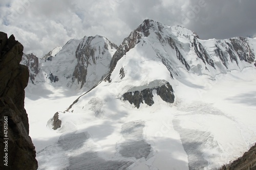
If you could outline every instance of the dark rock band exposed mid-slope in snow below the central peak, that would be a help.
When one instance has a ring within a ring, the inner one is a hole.
[[[130,104],[134,104],[139,108],[140,104],[145,102],[148,106],[154,104],[153,90],[157,90],[157,95],[167,103],[174,103],[175,95],[172,86],[167,82],[166,84],[154,88],[145,88],[141,91],[126,92],[123,94],[123,100],[129,101]]]

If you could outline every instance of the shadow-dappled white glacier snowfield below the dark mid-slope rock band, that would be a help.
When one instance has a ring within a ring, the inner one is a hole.
[[[84,169],[88,164],[94,165],[99,160],[103,161],[102,164],[93,168],[103,168],[106,162],[115,167],[113,164],[116,163],[111,161],[135,162],[130,165],[130,169],[188,169],[188,165],[191,169],[199,165],[210,169],[221,166],[241,156],[256,140],[255,72],[255,68],[246,68],[242,72],[221,74],[215,80],[200,76],[196,76],[196,80],[195,77],[187,77],[186,81],[194,85],[188,86],[180,82],[175,90],[180,93],[179,99],[172,107],[158,98],[155,99],[154,106],[137,109],[127,101],[122,102],[108,97],[108,92],[104,94],[99,91],[100,95],[91,94],[95,97],[88,99],[88,102],[81,102],[84,103],[81,104],[81,110],[82,107],[88,106],[87,110],[60,114],[62,127],[57,134],[45,126],[52,116],[50,112],[53,112],[48,109],[48,116],[44,115],[44,122],[40,126],[39,120],[30,125],[30,135],[33,141],[37,141],[35,145],[37,144],[36,150],[39,151],[39,169],[63,169],[64,166],[69,167],[72,164],[70,169]],[[195,85],[202,84],[201,81],[208,83],[201,88],[195,88]],[[106,97],[102,99],[100,96],[104,95]],[[48,103],[46,102],[49,99],[39,101],[46,103],[48,107],[56,108],[55,102],[66,102],[67,106],[71,100],[59,100],[54,96],[50,99],[51,102]],[[65,109],[67,107],[55,110]],[[38,110],[36,113],[40,114]],[[31,113],[28,108],[27,111]],[[46,111],[41,112],[45,114]],[[122,127],[127,123],[131,124],[131,130],[128,130],[127,137],[124,137]],[[38,134],[36,129],[32,130],[35,124],[44,131]],[[135,130],[138,124],[143,127],[140,132]],[[141,135],[135,136],[130,131]],[[74,134],[66,136],[69,133]],[[76,137],[75,134],[84,134],[84,137],[78,138],[79,135]],[[60,135],[65,137],[68,141],[66,145],[71,148],[61,148],[62,140],[58,138]],[[80,143],[77,143],[79,141]],[[148,144],[151,147],[150,153],[144,153]],[[41,151],[44,146],[47,147]],[[125,147],[131,150],[127,156]],[[140,148],[143,150],[139,150]],[[84,161],[84,157],[91,155],[94,155],[91,161]],[[76,160],[75,163],[73,159]],[[76,164],[81,167],[75,166]]]

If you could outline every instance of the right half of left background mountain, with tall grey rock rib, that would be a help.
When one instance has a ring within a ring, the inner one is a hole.
[[[88,72],[97,76],[95,66],[98,62],[108,67],[112,58],[109,53],[109,48],[116,49],[117,46],[102,36],[84,37],[76,50],[78,64],[75,67],[72,81],[77,80],[78,84],[81,83],[80,88],[82,88],[88,79],[90,79],[87,78]],[[103,67],[99,69],[101,69],[102,75],[98,82],[102,80],[109,71],[109,69],[104,69]]]

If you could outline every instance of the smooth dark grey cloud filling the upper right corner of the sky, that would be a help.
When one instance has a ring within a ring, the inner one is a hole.
[[[209,1],[187,26],[203,39],[253,36],[256,33],[256,1]],[[191,6],[194,6],[191,4]]]

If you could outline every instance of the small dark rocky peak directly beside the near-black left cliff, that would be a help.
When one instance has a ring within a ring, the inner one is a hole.
[[[20,64],[26,65],[29,68],[29,77],[31,82],[34,84],[35,77],[39,73],[39,60],[33,54],[24,54]]]

